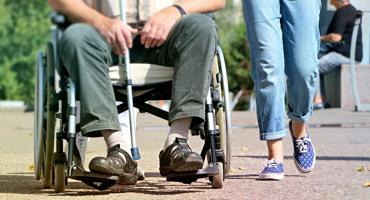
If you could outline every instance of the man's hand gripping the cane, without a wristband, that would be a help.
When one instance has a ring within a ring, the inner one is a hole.
[[[106,18],[103,24],[98,31],[111,46],[114,54],[123,57],[127,53],[126,44],[128,48],[132,47],[131,35],[136,34],[138,30],[117,19]]]

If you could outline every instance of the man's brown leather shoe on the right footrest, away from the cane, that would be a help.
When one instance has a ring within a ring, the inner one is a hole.
[[[176,148],[171,152],[171,150]],[[159,153],[159,172],[161,176],[167,176],[171,172],[186,172],[202,169],[202,157],[192,152],[186,139],[176,138],[166,150]]]

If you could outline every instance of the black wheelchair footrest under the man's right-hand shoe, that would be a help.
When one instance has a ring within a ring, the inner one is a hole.
[[[167,175],[167,181],[181,182],[185,184],[191,184],[198,179],[205,178],[208,176],[218,175],[218,163],[209,163],[205,169],[198,169],[188,172],[176,172]]]

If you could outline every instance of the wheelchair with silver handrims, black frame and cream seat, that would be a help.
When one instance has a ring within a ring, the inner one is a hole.
[[[57,193],[65,192],[68,178],[80,180],[98,190],[105,190],[117,184],[119,177],[88,172],[82,165],[81,157],[75,144],[76,133],[80,131],[80,125],[76,124],[77,95],[75,84],[68,75],[67,70],[63,67],[63,62],[57,48],[57,41],[68,23],[63,15],[57,13],[52,13],[51,19],[57,25],[51,34],[52,41],[54,40],[54,42],[48,42],[44,52],[38,50],[36,61],[34,121],[35,179],[42,180],[44,189],[49,189],[53,185]],[[220,63],[223,76],[219,73],[218,63]],[[171,98],[173,69],[151,64],[131,65],[134,66],[132,69],[135,69],[131,72],[132,91],[135,92],[132,101],[133,106],[141,111],[168,120],[167,111],[151,106],[146,102],[149,100],[169,100]],[[110,68],[110,76],[116,100],[123,102],[117,106],[118,113],[129,109],[124,71],[125,69],[122,70],[122,66]],[[142,74],[157,73],[160,73],[161,76],[151,77],[152,79],[150,80],[140,78]],[[55,87],[57,79],[60,79],[58,81],[58,88]],[[57,92],[57,90],[59,91]],[[224,97],[221,91],[223,91]],[[217,47],[217,54],[213,64],[213,77],[205,104],[205,122],[194,130],[191,130],[191,134],[200,135],[205,141],[201,157],[204,161],[208,162],[208,165],[199,170],[170,173],[166,177],[167,181],[190,184],[197,179],[209,177],[212,188],[222,188],[225,176],[228,175],[230,170],[231,126],[228,82],[225,62],[220,47]],[[223,108],[225,108],[225,114]],[[57,119],[60,120],[60,127],[55,132]],[[225,125],[224,121],[226,122]],[[68,156],[63,151],[63,140],[68,142]],[[55,152],[54,147],[56,148]],[[139,156],[133,155],[133,157],[135,159],[135,157]]]

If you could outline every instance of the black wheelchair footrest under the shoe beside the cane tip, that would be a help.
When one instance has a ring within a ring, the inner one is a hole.
[[[120,180],[120,177],[118,176],[84,171],[77,165],[67,166],[66,177],[80,180],[98,190],[106,190],[109,187],[116,185],[118,180]]]

